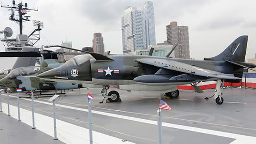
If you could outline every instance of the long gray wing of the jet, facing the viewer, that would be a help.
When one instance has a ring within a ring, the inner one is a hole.
[[[207,78],[217,78],[217,79],[241,79],[239,77],[234,77],[234,74],[224,74],[221,72],[216,72],[213,70],[207,70],[193,65],[188,65],[183,62],[177,62],[174,60],[167,59],[157,59],[157,58],[141,58],[137,59],[138,62],[153,65],[155,67],[164,68],[167,70],[174,70],[178,72],[184,72],[191,75],[197,75]]]

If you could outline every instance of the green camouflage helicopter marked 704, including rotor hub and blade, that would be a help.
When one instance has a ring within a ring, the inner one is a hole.
[[[22,58],[29,57],[31,59],[33,59],[36,56],[41,56],[40,55],[41,52],[39,51],[36,51],[36,55],[35,54],[31,55],[30,52],[28,53],[27,52],[26,53],[2,52],[0,55],[3,55],[3,54],[7,54],[7,56],[8,55],[19,56]],[[53,81],[41,80],[36,77],[27,77],[27,76],[36,76],[38,74],[41,74],[42,72],[46,72],[60,65],[63,65],[66,62],[65,60],[63,61],[58,60],[57,54],[60,54],[60,53],[44,50],[42,54],[43,54],[44,60],[41,62],[40,66],[17,67],[11,70],[11,72],[7,74],[6,77],[0,79],[0,85],[10,88],[10,92],[16,92],[16,90],[19,88],[19,89],[22,89],[22,91],[40,90],[40,94],[41,94],[41,90],[65,90],[65,89],[82,88],[81,84],[53,82]],[[16,63],[19,61],[19,59],[20,58],[17,59]],[[34,61],[34,65],[35,65],[35,61]],[[61,93],[61,94],[65,94],[65,93]]]

